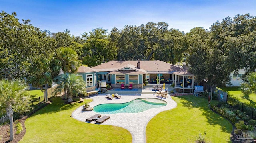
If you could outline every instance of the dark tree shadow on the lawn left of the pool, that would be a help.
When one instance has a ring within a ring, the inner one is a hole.
[[[66,100],[62,100],[60,97],[53,97],[50,99],[51,103],[46,107],[38,110],[36,113],[32,114],[30,117],[36,116],[38,114],[52,114],[56,112],[60,112],[63,110],[68,110],[70,108],[74,108],[80,104],[79,102],[74,102],[67,104]],[[81,104],[82,105],[82,104]]]

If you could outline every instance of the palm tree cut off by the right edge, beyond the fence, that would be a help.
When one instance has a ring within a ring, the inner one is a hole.
[[[242,98],[250,99],[250,94],[256,94],[256,72],[249,72],[245,76],[245,82],[241,84]]]

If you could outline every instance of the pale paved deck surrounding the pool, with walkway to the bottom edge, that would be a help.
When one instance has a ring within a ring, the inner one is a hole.
[[[98,104],[104,104],[104,103],[125,103],[125,102],[130,102],[131,100],[136,98],[157,98],[167,102],[167,105],[164,107],[152,108],[140,113],[101,114],[102,116],[104,115],[110,116],[110,119],[106,120],[101,125],[115,125],[115,126],[119,126],[127,129],[132,134],[133,143],[146,143],[146,126],[150,121],[150,119],[152,119],[154,116],[156,116],[156,114],[162,111],[170,110],[177,106],[177,103],[174,100],[172,100],[170,95],[168,95],[168,98],[156,97],[155,94],[121,95],[121,96],[122,97],[120,99],[113,98],[112,100],[106,98],[106,94],[90,96],[90,98],[93,99],[93,101],[90,102],[89,105],[90,107],[94,107]],[[72,113],[72,116],[73,118],[82,122],[86,122],[87,118],[89,118],[90,116],[93,116],[94,114],[98,114],[94,111],[81,111],[81,110],[82,110],[82,106],[77,108]],[[92,121],[91,123],[95,124],[95,121]]]

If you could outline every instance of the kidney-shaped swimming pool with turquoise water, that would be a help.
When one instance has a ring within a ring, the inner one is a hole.
[[[100,114],[115,113],[139,113],[151,108],[166,106],[167,102],[156,98],[138,98],[130,102],[120,104],[100,104],[93,108],[94,112]]]

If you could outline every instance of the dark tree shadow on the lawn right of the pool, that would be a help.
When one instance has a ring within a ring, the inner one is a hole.
[[[179,98],[186,100],[186,102],[180,102],[182,106],[188,108],[189,110],[192,108],[198,108],[202,111],[202,115],[207,118],[207,121],[210,125],[220,125],[222,128],[221,130],[226,133],[231,133],[232,131],[232,124],[230,126],[227,125],[228,121],[224,121],[220,115],[216,114],[212,110],[210,110],[208,106],[208,99],[203,97],[196,97],[196,96],[178,96]],[[231,127],[231,128],[230,128]]]

